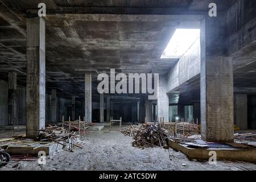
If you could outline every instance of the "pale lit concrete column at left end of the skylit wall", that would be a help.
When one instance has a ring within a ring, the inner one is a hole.
[[[159,75],[159,84],[158,84],[158,117],[164,117],[164,121],[168,122],[169,120],[169,97],[166,94],[166,77]],[[157,120],[158,118],[156,118]]]

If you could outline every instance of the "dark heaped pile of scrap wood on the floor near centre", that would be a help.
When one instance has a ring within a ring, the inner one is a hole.
[[[133,146],[139,148],[167,147],[168,136],[168,131],[160,125],[142,125],[134,137]]]

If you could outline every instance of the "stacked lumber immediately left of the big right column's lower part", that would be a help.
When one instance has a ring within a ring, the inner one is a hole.
[[[176,123],[176,135],[191,136],[198,134],[198,125],[194,123]]]

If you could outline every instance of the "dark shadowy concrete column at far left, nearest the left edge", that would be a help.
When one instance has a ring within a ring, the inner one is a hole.
[[[18,125],[17,75],[15,72],[8,74],[8,124]]]

